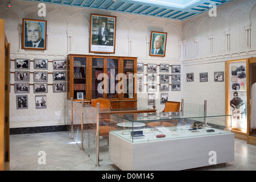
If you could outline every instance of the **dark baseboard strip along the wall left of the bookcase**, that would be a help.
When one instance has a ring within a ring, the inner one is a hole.
[[[11,128],[10,135],[68,131],[67,125]]]

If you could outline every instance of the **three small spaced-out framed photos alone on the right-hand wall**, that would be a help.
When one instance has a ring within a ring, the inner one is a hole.
[[[214,81],[224,81],[224,72],[214,72]],[[194,73],[187,73],[187,82],[194,81]],[[208,82],[208,72],[199,73],[200,82]]]

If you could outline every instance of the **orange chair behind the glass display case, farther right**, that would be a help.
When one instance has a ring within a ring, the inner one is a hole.
[[[162,112],[179,112],[180,111],[180,102],[175,101],[166,101],[166,105],[164,106],[164,110]],[[157,127],[157,126],[177,126],[177,119],[172,120],[172,122],[168,121],[156,121],[156,122],[149,122],[146,123],[148,127]]]

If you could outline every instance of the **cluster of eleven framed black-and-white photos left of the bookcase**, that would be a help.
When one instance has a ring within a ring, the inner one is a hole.
[[[16,93],[16,109],[33,107],[33,105],[28,107],[31,99],[28,93],[30,96],[34,93],[35,109],[46,109],[50,86],[52,86],[53,93],[67,91],[67,60],[15,59],[11,61],[15,61],[15,71],[11,72],[14,74],[15,83],[11,85],[14,85],[14,93]],[[53,72],[48,72],[49,64]],[[48,82],[48,76],[52,76],[52,83]],[[30,85],[32,85],[33,92],[30,90]]]

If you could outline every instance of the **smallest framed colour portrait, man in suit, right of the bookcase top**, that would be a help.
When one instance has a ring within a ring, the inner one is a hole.
[[[151,32],[150,56],[166,56],[167,33]]]

